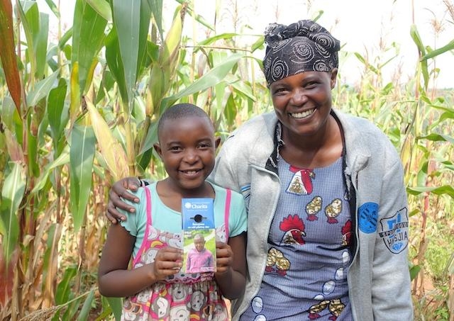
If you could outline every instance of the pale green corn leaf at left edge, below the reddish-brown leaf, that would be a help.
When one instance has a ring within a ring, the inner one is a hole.
[[[1,189],[1,234],[6,261],[11,259],[11,254],[17,245],[19,237],[19,223],[17,211],[26,190],[26,176],[23,171],[23,164],[20,162],[10,163],[11,172],[6,176],[6,179]]]

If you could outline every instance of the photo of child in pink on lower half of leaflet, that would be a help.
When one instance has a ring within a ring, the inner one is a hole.
[[[211,230],[207,230],[211,233]],[[208,238],[208,237],[207,237]],[[187,239],[185,237],[185,239]],[[215,241],[214,238],[206,240],[206,237],[201,233],[200,230],[194,234],[192,246],[186,251],[187,247],[184,247],[184,252],[187,255],[184,257],[184,265],[186,273],[203,273],[203,272],[215,272],[216,264],[213,253],[206,247],[206,243]]]

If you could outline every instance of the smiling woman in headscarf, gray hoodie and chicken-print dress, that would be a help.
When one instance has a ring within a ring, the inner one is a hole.
[[[309,20],[265,41],[275,112],[235,130],[210,176],[248,207],[233,320],[413,320],[402,163],[375,125],[331,108],[339,41]],[[110,219],[133,184],[114,185]]]

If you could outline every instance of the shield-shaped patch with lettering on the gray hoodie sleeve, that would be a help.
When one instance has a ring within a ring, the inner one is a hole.
[[[390,218],[380,220],[381,231],[378,233],[390,252],[398,254],[409,244],[409,215],[402,208]]]

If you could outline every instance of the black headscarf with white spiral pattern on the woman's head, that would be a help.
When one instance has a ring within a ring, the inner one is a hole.
[[[330,72],[338,67],[341,43],[314,21],[300,20],[289,26],[271,23],[265,42],[263,72],[268,85],[300,72]]]

